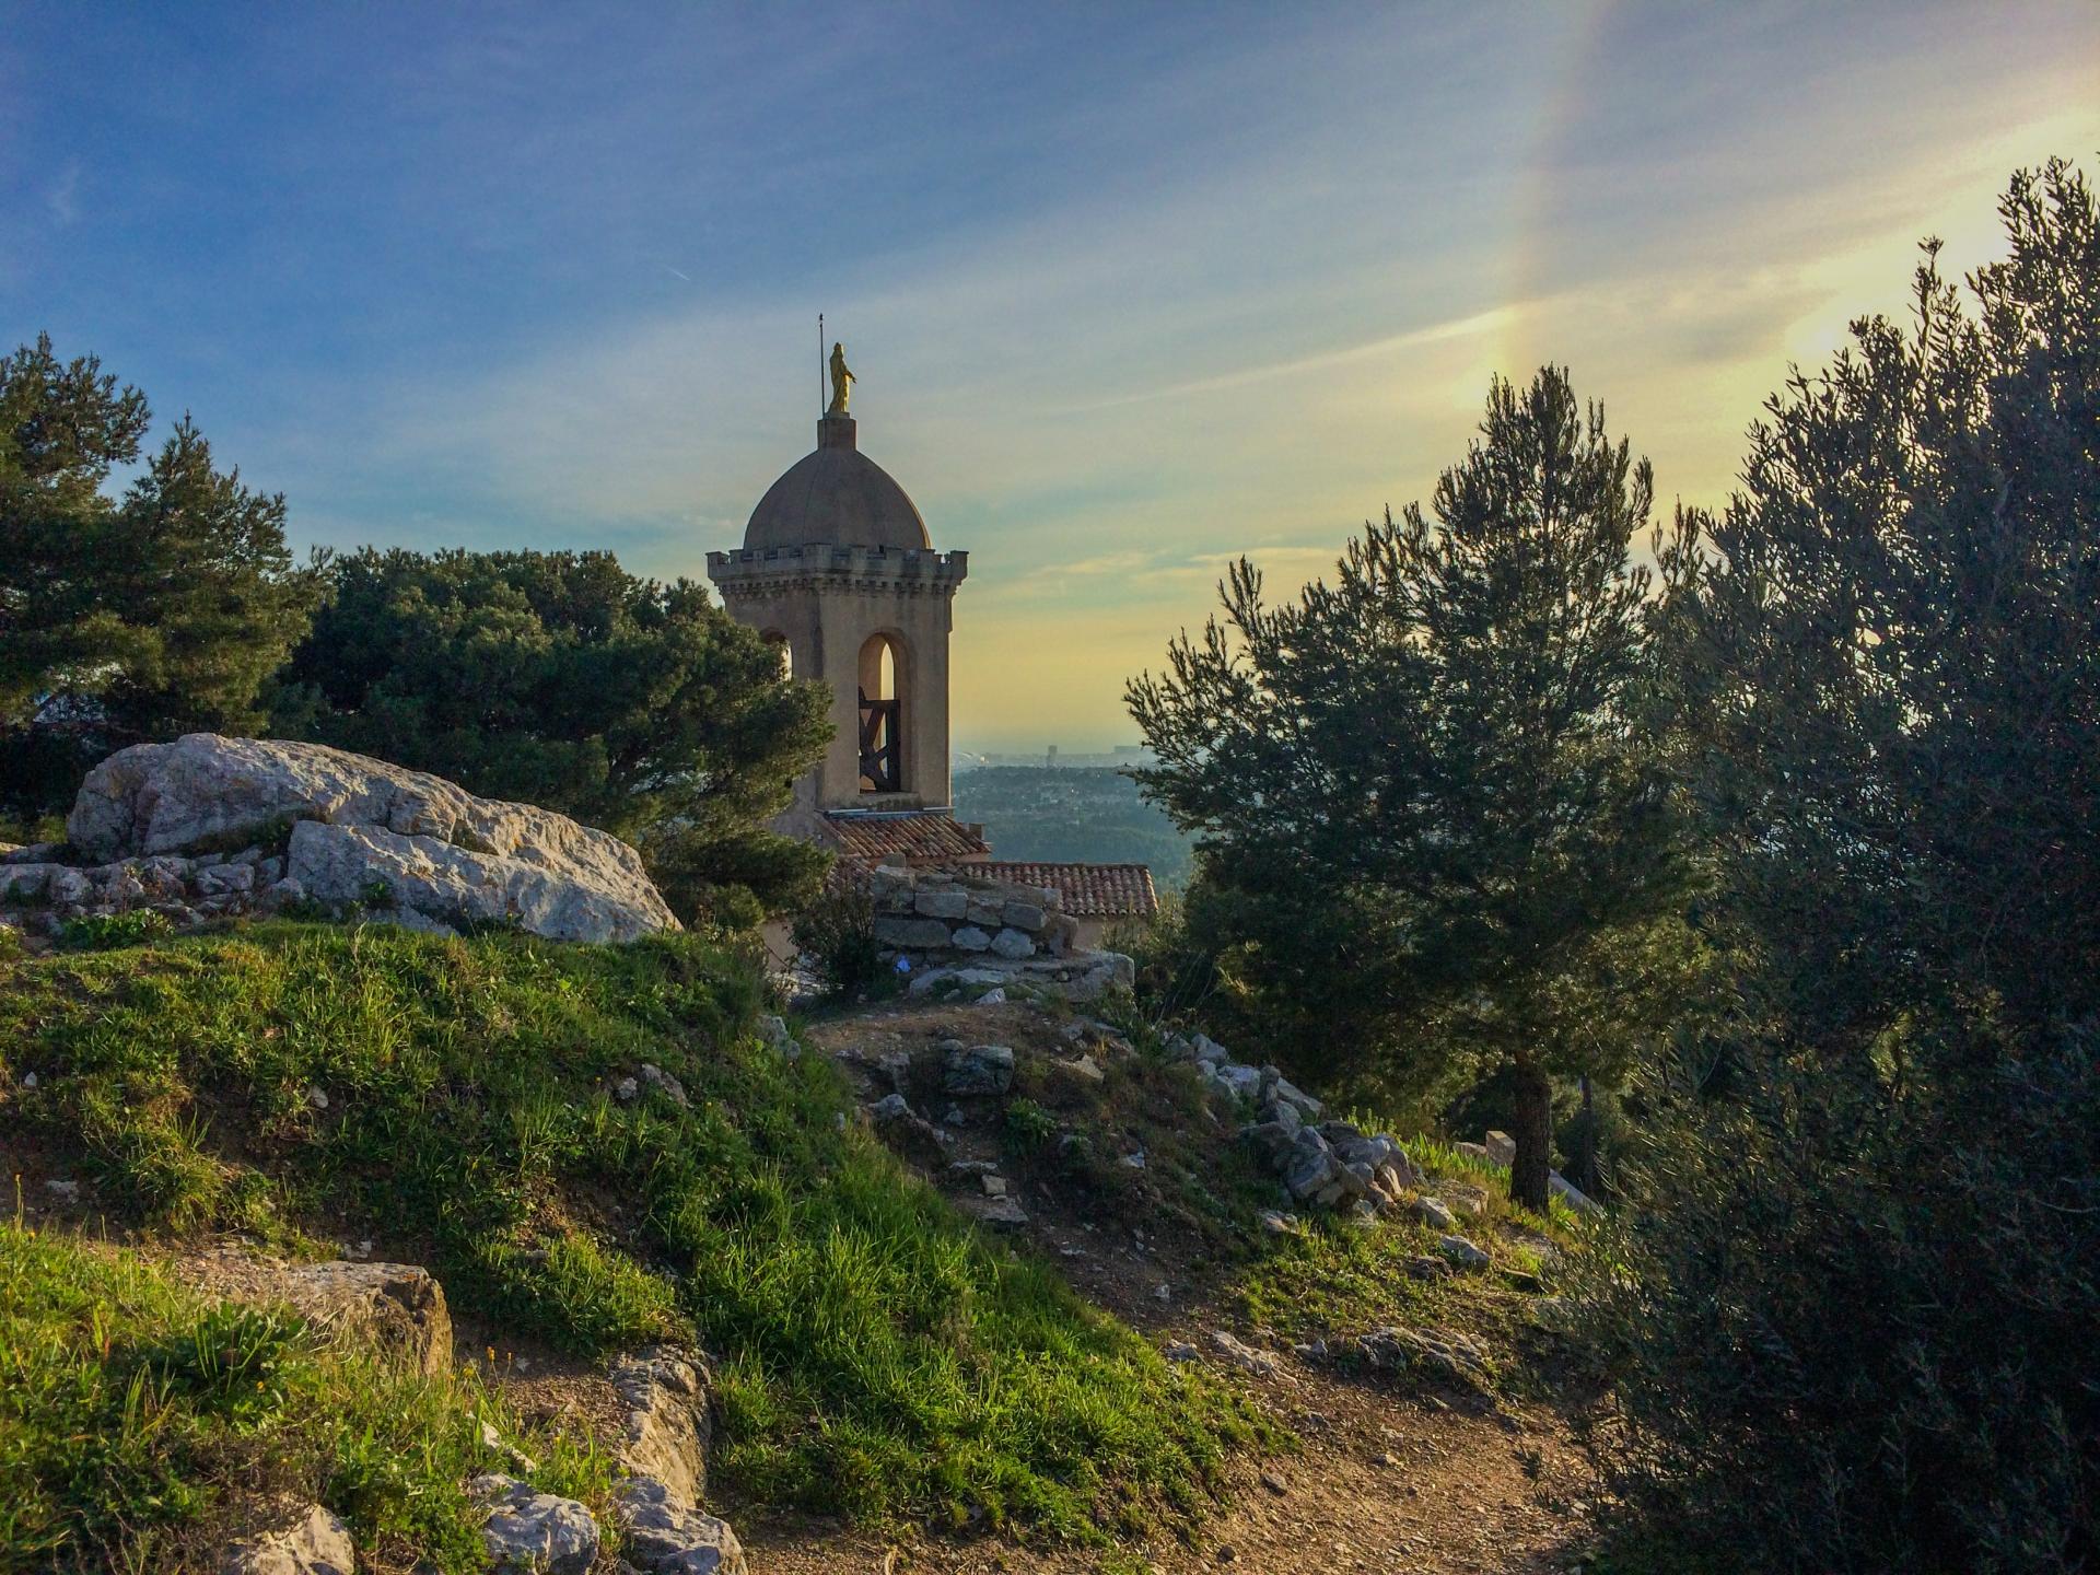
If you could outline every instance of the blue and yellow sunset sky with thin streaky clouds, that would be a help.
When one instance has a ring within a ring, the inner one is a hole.
[[[0,2],[0,338],[304,542],[704,571],[815,313],[941,546],[968,748],[1130,735],[1220,565],[1319,573],[1491,372],[1718,500],[1789,359],[2100,149],[2100,4]]]

